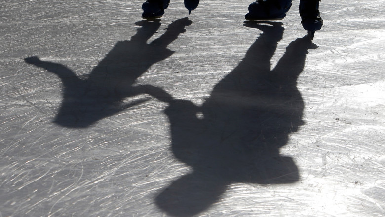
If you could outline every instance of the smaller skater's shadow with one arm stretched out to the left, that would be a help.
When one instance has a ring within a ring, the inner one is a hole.
[[[130,41],[119,41],[114,48],[87,75],[78,77],[66,66],[41,61],[37,56],[24,60],[49,72],[57,74],[63,82],[63,101],[55,123],[74,128],[88,127],[95,122],[114,115],[148,99],[123,104],[122,100],[145,93],[156,87],[134,86],[135,80],[154,63],[170,57],[174,52],[167,46],[184,33],[191,25],[188,18],[171,23],[166,32],[151,43],[147,41],[159,29],[160,20],[139,21],[141,26]]]

